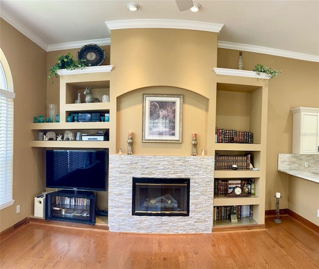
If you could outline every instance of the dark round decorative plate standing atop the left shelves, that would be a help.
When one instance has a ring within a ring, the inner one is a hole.
[[[79,49],[76,57],[78,60],[86,60],[86,66],[97,66],[104,62],[105,51],[99,45],[88,44]]]

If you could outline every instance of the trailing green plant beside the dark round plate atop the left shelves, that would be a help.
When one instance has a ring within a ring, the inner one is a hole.
[[[49,69],[49,75],[48,79],[51,79],[51,76],[58,77],[58,70],[59,69],[68,69],[68,70],[74,70],[74,69],[83,69],[86,67],[84,62],[85,59],[80,60],[74,60],[73,55],[69,52],[66,55],[59,55],[56,57],[57,63],[50,67]],[[54,83],[54,82],[52,82]]]

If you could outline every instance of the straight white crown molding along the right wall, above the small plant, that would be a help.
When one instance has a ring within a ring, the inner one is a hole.
[[[227,42],[227,41],[218,41],[217,47],[218,48],[249,51],[249,52],[256,52],[256,53],[292,58],[292,59],[297,59],[297,60],[304,60],[304,61],[309,61],[309,62],[319,62],[319,56],[317,56],[317,55],[310,55],[310,54],[293,52],[293,51],[288,51],[288,50],[260,47],[260,46],[240,44],[240,43],[232,43],[232,42]]]

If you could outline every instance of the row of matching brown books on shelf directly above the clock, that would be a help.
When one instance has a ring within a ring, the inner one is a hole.
[[[215,154],[215,170],[232,169],[232,165],[236,164],[237,169],[250,169],[252,161],[251,153],[245,155],[219,155]]]

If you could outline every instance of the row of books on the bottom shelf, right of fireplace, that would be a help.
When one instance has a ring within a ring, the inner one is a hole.
[[[236,215],[237,218],[252,218],[254,215],[253,205],[235,205],[235,206],[215,206],[214,220],[229,220],[230,215]]]

